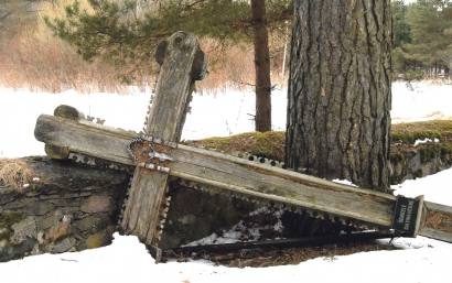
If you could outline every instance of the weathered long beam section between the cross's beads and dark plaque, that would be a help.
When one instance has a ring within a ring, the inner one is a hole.
[[[174,176],[378,226],[389,227],[392,222],[395,197],[387,194],[191,146],[179,146],[172,156],[176,160],[170,164]]]

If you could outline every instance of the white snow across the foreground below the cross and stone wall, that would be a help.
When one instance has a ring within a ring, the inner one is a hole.
[[[196,261],[154,264],[136,237],[77,253],[43,254],[0,264],[2,282],[448,282],[452,246],[427,239],[398,240],[405,250],[318,258],[298,265],[225,268]],[[397,240],[396,240],[397,241]]]

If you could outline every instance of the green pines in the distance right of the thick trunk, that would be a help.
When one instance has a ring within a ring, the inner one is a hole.
[[[452,1],[392,1],[395,78],[450,77]]]

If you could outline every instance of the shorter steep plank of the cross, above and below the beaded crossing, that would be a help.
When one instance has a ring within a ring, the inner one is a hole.
[[[162,64],[146,133],[164,141],[177,142],[192,99],[196,56],[196,36],[174,33],[159,48]],[[147,244],[155,244],[160,210],[168,189],[168,174],[137,167],[126,203],[121,228]]]

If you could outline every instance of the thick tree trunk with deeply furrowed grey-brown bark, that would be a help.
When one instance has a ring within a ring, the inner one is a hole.
[[[386,191],[389,0],[297,0],[286,141],[288,167]]]

